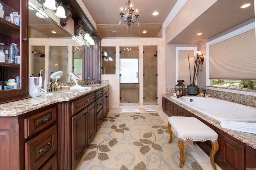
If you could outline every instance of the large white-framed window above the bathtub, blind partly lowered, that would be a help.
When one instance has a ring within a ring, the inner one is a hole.
[[[206,85],[256,95],[255,53],[254,23],[206,43]]]

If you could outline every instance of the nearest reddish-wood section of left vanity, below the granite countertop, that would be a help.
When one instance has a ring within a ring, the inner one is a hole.
[[[37,170],[50,160],[57,162],[57,135],[55,105],[1,117],[0,170]]]

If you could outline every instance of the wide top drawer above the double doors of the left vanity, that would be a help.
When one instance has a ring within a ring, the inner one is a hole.
[[[75,102],[72,102],[72,115],[78,113],[78,111],[81,111],[86,106],[91,104],[96,99],[96,94],[92,93],[88,96],[85,96],[84,98],[81,98],[79,100],[76,100]]]

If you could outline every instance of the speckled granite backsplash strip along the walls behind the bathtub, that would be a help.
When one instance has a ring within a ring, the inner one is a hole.
[[[236,94],[230,92],[223,92],[218,90],[210,90],[206,88],[199,88],[199,94],[203,93],[203,90],[206,90],[205,94],[210,94],[211,97],[217,98],[220,100],[226,100],[229,102],[234,102],[238,104],[243,104],[246,106],[256,107],[256,100],[255,96],[244,95],[244,94]],[[167,88],[166,89],[167,95],[173,95],[175,92],[175,88]],[[187,93],[186,93],[187,95]]]

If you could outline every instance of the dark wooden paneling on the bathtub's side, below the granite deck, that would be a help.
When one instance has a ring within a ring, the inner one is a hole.
[[[165,100],[165,109],[164,113],[168,116],[191,116],[196,117],[210,128],[212,128],[216,133],[218,133],[218,143],[220,149],[215,155],[215,162],[220,166],[220,168],[225,170],[246,170],[256,167],[256,149],[242,143],[238,139],[229,135],[228,133],[218,129],[214,125],[208,123],[207,121],[201,119],[200,117],[194,115],[190,111],[182,108],[181,106],[174,104],[170,100],[164,98]],[[169,108],[168,108],[169,106]],[[172,107],[173,115],[170,115],[170,108]],[[206,154],[210,154],[212,149],[211,143],[206,142],[197,142],[197,145],[204,150]]]

